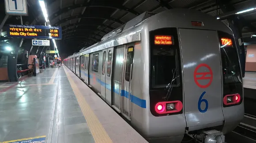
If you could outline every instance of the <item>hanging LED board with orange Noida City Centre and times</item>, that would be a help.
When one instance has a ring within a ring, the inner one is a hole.
[[[61,27],[38,25],[9,25],[8,37],[24,39],[61,39]]]

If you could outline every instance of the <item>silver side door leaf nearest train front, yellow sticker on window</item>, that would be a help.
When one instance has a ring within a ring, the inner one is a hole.
[[[124,50],[124,72],[122,87],[122,114],[131,119],[131,83],[132,83],[132,65],[133,65],[134,44],[126,45]]]

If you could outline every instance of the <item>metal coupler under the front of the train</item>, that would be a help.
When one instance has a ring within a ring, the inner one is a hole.
[[[196,140],[200,140],[200,143],[225,143],[225,136],[223,135],[223,132],[210,130],[196,135]]]

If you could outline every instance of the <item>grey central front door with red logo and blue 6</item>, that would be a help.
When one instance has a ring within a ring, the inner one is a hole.
[[[189,131],[222,125],[220,46],[216,31],[179,29],[184,113]]]

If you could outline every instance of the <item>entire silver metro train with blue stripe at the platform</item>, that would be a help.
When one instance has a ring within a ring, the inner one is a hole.
[[[150,143],[222,143],[244,117],[234,40],[199,11],[144,12],[64,64]]]

